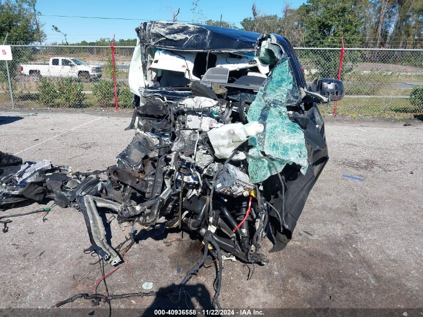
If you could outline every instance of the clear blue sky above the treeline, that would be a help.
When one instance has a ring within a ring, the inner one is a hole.
[[[38,0],[37,10],[43,15],[60,16],[86,16],[86,17],[112,17],[134,20],[100,20],[82,18],[45,17],[40,19],[45,23],[47,43],[62,42],[64,39],[59,33],[52,31],[52,25],[59,27],[68,35],[70,43],[82,40],[95,41],[100,38],[116,39],[135,38],[135,28],[142,20],[171,20],[172,8],[181,9],[178,16],[180,21],[191,21],[193,18],[191,8],[193,0],[73,0],[52,1]],[[239,22],[245,17],[251,17],[253,0],[199,0],[198,9],[201,9],[205,20],[223,20]],[[266,14],[281,15],[283,0],[255,1],[257,9]],[[303,3],[302,0],[288,1],[293,8]]]

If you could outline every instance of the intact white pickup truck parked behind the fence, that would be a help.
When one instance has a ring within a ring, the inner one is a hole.
[[[52,57],[49,64],[22,64],[21,73],[34,77],[68,77],[88,82],[102,76],[101,66],[73,57]]]

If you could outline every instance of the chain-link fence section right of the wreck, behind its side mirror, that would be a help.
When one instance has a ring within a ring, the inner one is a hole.
[[[297,48],[307,82],[337,78],[340,49]],[[412,116],[423,113],[423,50],[345,49],[342,75],[345,97],[337,114]],[[319,106],[333,111],[333,103]]]

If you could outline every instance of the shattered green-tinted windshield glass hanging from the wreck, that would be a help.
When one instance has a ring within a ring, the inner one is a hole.
[[[257,93],[248,110],[248,122],[258,121],[264,131],[249,139],[251,156],[264,153],[280,172],[286,164],[301,165],[305,174],[308,166],[307,149],[302,129],[287,117],[287,104],[298,100],[298,89],[288,58],[278,62]],[[260,183],[276,171],[266,159],[248,157],[248,174],[254,183]]]

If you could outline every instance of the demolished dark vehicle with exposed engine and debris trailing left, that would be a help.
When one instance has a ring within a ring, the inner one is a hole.
[[[204,263],[209,245],[220,273],[224,255],[267,263],[261,240],[272,240],[270,252],[286,245],[328,160],[317,104],[340,100],[342,82],[307,86],[292,46],[275,34],[165,22],[136,31],[133,140],[106,179],[101,171],[55,167],[67,176],[52,186],[52,171],[39,173],[43,198],[79,208],[93,249],[112,265],[123,259],[106,241],[98,208],[119,222],[198,233],[204,255],[181,284]],[[21,170],[2,166],[0,177]],[[9,185],[32,183],[18,180]],[[9,185],[3,195],[11,201],[31,199]],[[217,285],[220,306],[220,279]]]

